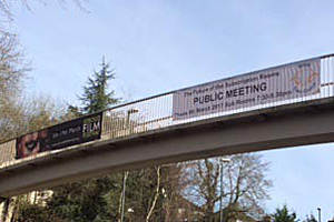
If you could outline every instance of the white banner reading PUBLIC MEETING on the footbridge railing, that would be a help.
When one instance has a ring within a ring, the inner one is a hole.
[[[218,80],[173,94],[173,119],[185,120],[320,93],[320,59]]]

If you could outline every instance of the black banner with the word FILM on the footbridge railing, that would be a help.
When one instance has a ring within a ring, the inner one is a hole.
[[[102,112],[76,119],[17,139],[17,159],[101,138]]]

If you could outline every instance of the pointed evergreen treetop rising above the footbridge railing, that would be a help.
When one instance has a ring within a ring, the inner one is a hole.
[[[108,81],[115,79],[114,70],[110,70],[110,63],[102,59],[101,70],[95,71],[92,78],[88,78],[87,87],[84,87],[84,94],[79,99],[84,107],[84,113],[94,113],[110,108],[111,104],[119,102],[115,98],[115,91],[108,92]]]

